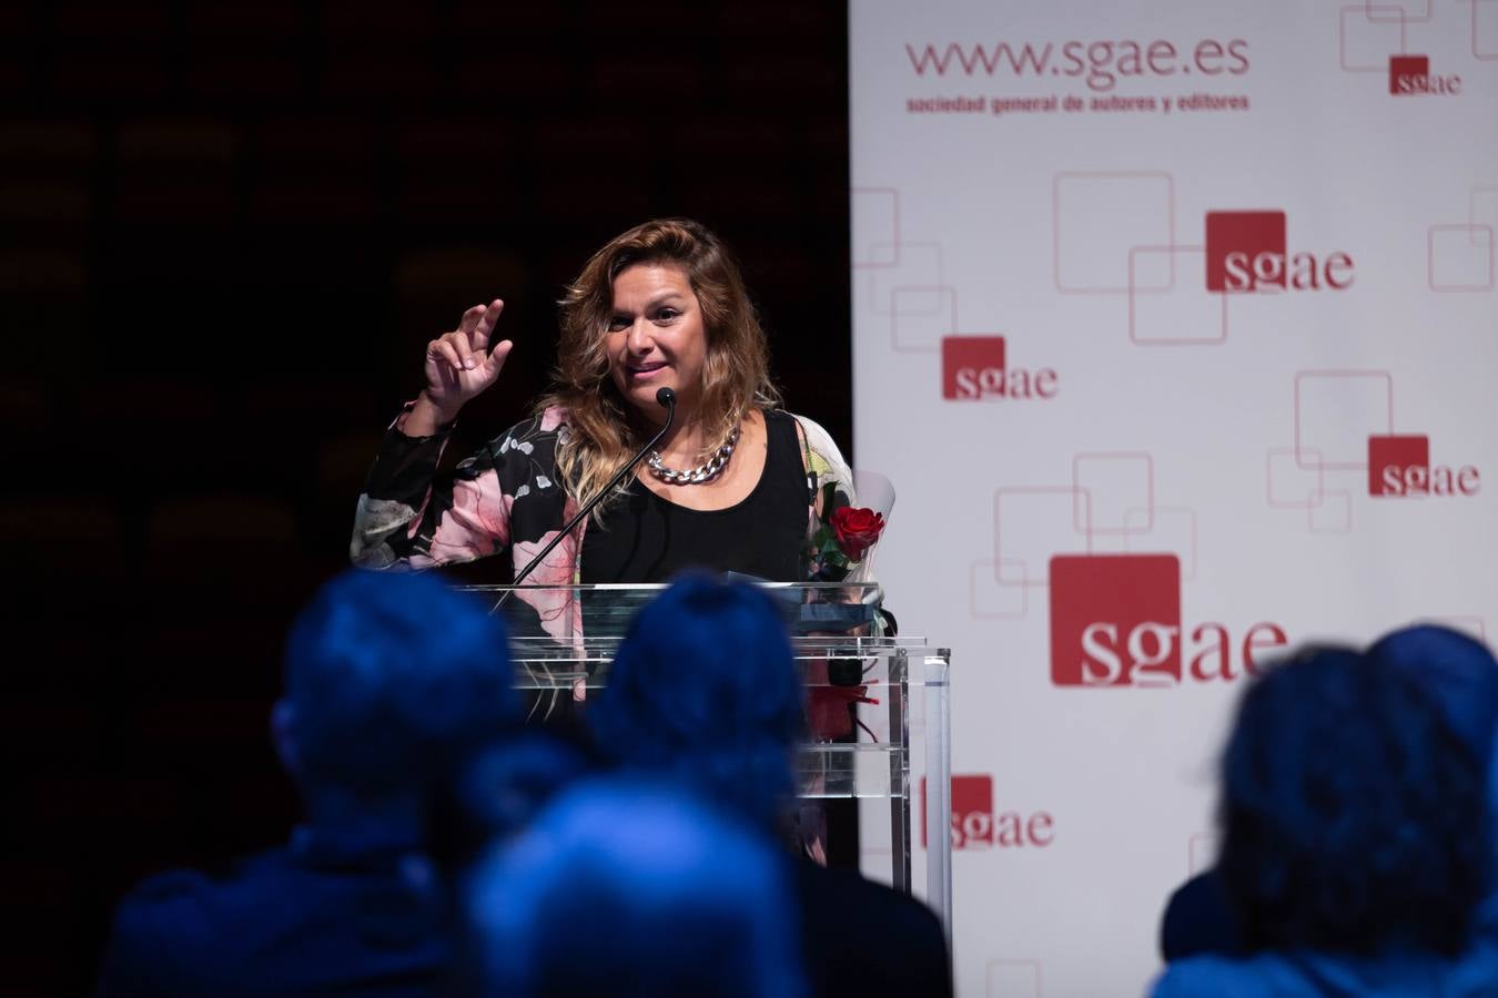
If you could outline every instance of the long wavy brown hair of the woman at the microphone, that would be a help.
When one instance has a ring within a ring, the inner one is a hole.
[[[536,408],[568,410],[568,435],[557,447],[557,468],[578,504],[596,495],[650,438],[610,377],[604,349],[614,311],[614,278],[635,263],[680,266],[703,310],[707,362],[694,413],[703,440],[709,441],[703,459],[752,408],[780,404],[780,392],[770,382],[770,347],[728,247],[691,218],[638,224],[610,239],[568,286],[560,302],[562,337],[553,389]]]

